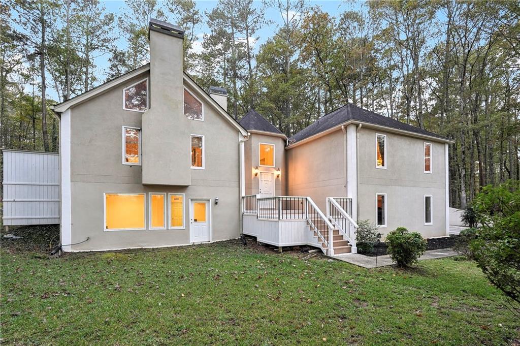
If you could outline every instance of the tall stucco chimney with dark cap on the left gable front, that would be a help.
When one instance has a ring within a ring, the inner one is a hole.
[[[187,186],[190,120],[184,115],[184,30],[151,19],[150,109],[142,115],[142,183]]]

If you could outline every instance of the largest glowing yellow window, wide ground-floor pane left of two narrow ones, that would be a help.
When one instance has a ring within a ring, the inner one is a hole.
[[[144,228],[144,194],[105,194],[105,229]]]

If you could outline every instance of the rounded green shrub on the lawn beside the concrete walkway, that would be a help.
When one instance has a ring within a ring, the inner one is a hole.
[[[408,232],[405,227],[398,227],[388,233],[386,244],[390,258],[400,267],[417,262],[426,251],[426,240],[417,232]]]

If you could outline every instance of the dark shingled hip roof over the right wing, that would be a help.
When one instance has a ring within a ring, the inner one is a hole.
[[[440,140],[440,142],[452,143],[452,140],[449,138],[437,135],[433,132],[382,116],[381,114],[362,109],[353,104],[346,104],[345,106],[326,114],[314,123],[305,127],[302,131],[296,133],[294,136],[289,138],[289,144],[295,144],[303,139],[312,137],[347,122],[387,127],[388,130],[394,129],[399,132],[407,132],[410,135],[435,138]]]

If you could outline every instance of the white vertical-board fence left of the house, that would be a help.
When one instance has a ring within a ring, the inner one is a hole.
[[[60,223],[59,155],[4,149],[4,225]]]

